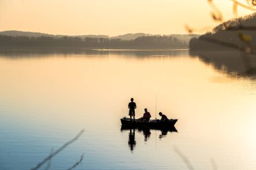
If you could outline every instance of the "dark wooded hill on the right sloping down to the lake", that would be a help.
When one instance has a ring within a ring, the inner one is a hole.
[[[256,13],[224,22],[199,38],[191,38],[190,50],[256,49]]]

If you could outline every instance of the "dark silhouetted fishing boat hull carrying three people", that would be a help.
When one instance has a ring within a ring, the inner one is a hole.
[[[151,129],[170,129],[174,127],[177,119],[170,119],[167,122],[160,122],[160,120],[150,120],[149,122],[139,122],[139,120],[131,120],[130,118],[121,118],[123,128],[151,128]]]

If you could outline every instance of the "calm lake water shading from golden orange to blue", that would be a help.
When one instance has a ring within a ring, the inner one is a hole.
[[[0,169],[32,169],[82,129],[40,169],[83,153],[75,169],[256,169],[256,81],[226,67],[188,50],[2,52]],[[121,130],[131,97],[178,132]]]

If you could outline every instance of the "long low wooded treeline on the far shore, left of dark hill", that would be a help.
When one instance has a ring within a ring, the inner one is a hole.
[[[109,38],[79,37],[28,37],[0,36],[0,46],[18,47],[83,47],[83,48],[133,48],[133,49],[166,49],[187,48],[188,44],[172,36],[141,36],[134,40]]]

